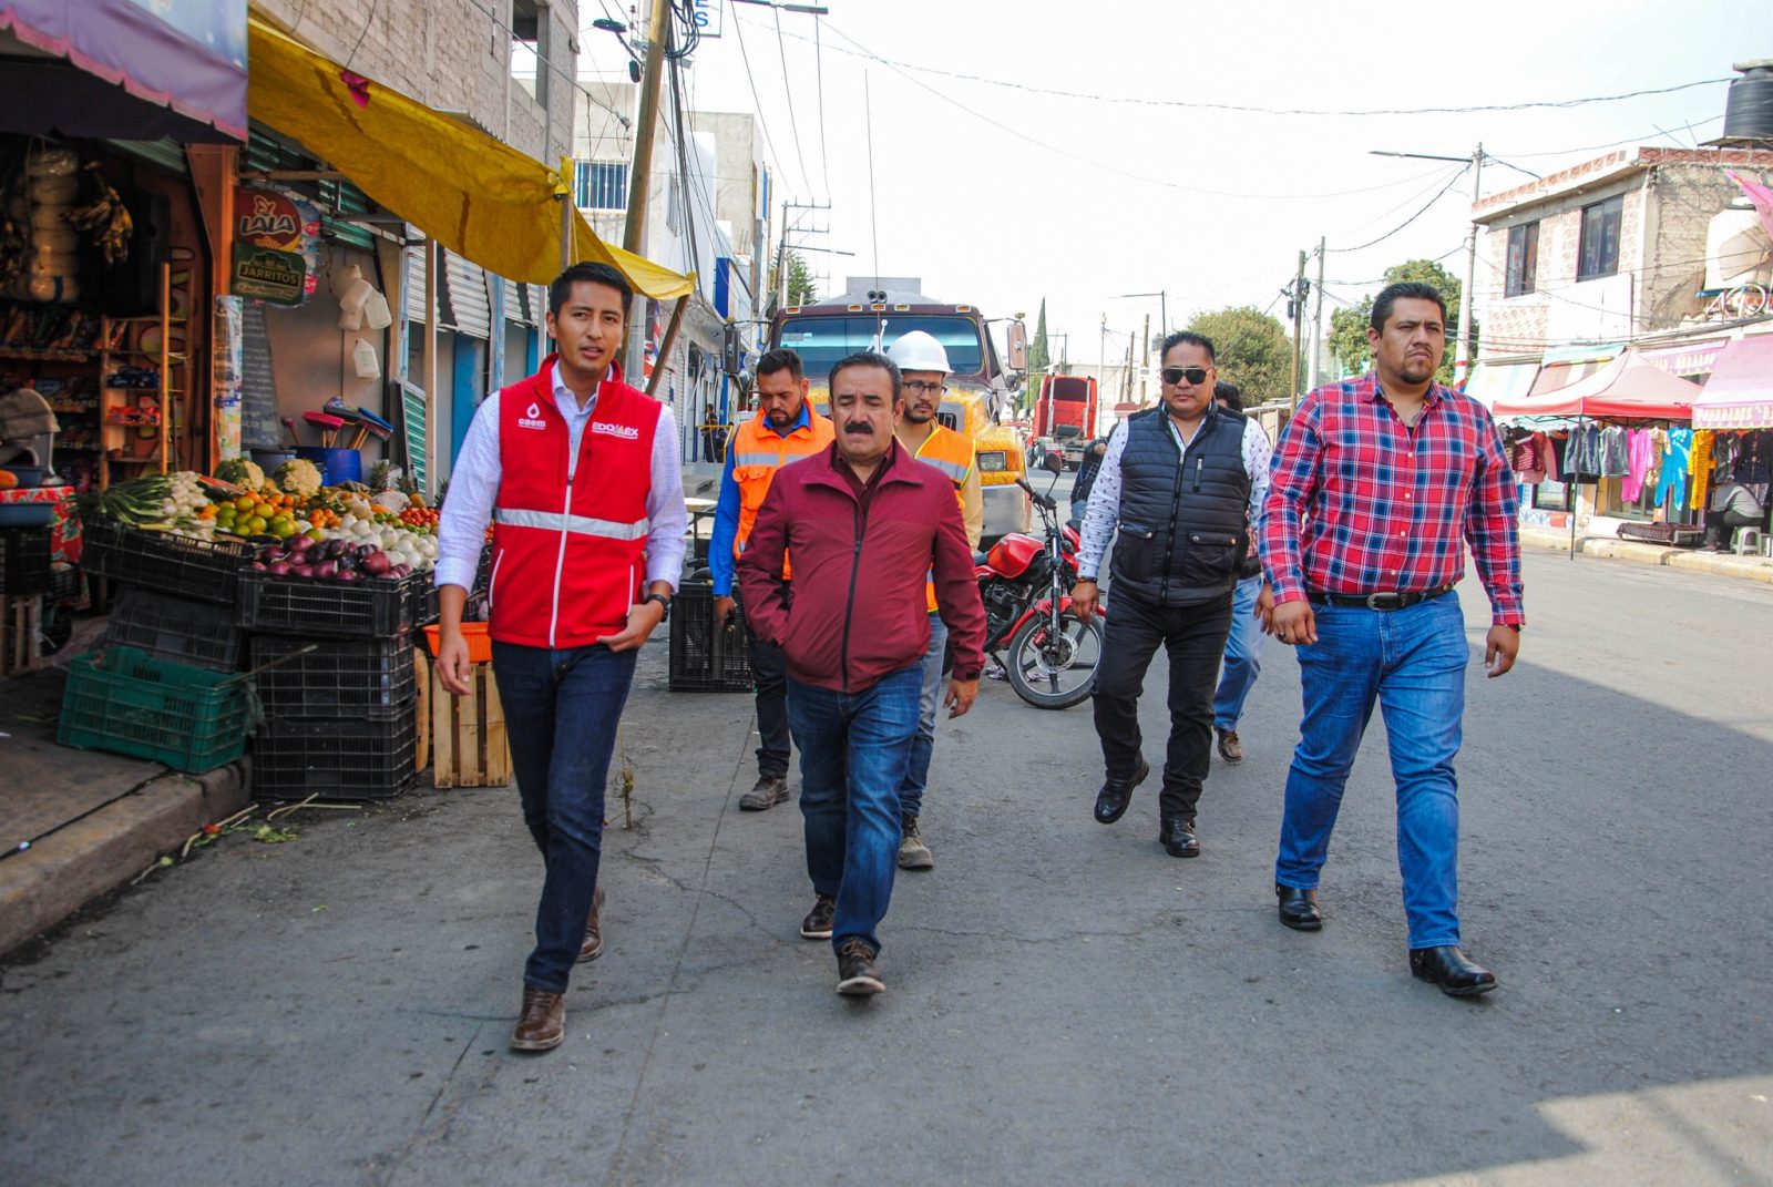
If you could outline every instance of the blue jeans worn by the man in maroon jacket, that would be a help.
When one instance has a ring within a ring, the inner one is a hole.
[[[832,947],[862,939],[881,949],[874,930],[899,868],[899,786],[917,736],[922,676],[922,664],[913,664],[849,694],[787,678],[807,875],[817,894],[837,898]]]

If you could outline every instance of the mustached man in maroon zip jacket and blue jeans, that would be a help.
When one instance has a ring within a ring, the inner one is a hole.
[[[750,626],[787,658],[787,717],[800,743],[807,873],[817,896],[800,926],[837,949],[837,992],[879,994],[874,930],[899,862],[899,784],[911,756],[929,648],[924,577],[954,646],[945,704],[979,696],[986,612],[973,554],[941,470],[894,440],[899,367],[860,351],[832,367],[837,440],[777,472],[739,557]],[[782,578],[794,555],[793,596]]]

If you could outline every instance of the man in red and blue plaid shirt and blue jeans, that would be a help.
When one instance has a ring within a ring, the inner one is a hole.
[[[1262,566],[1275,591],[1268,628],[1300,648],[1305,694],[1275,894],[1284,924],[1323,926],[1317,875],[1378,701],[1397,781],[1410,971],[1470,997],[1496,978],[1459,949],[1452,759],[1470,648],[1452,587],[1470,541],[1491,605],[1484,664],[1502,676],[1523,623],[1514,476],[1489,412],[1434,383],[1447,350],[1440,293],[1386,287],[1367,341],[1371,374],[1300,403],[1262,515]]]

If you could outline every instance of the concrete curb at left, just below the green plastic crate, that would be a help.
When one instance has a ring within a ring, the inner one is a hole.
[[[246,770],[161,772],[90,816],[0,861],[0,955],[126,885],[206,823],[246,807]]]

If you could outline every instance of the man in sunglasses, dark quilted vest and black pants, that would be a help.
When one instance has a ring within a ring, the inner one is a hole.
[[[1232,589],[1268,495],[1268,436],[1254,421],[1213,403],[1213,341],[1163,339],[1158,408],[1108,436],[1083,516],[1071,603],[1089,616],[1096,577],[1119,527],[1110,571],[1113,614],[1096,671],[1096,735],[1106,779],[1096,820],[1112,825],[1151,768],[1140,754],[1138,696],[1158,644],[1170,656],[1170,742],[1158,795],[1158,841],[1170,857],[1197,857],[1195,806],[1213,752],[1213,687],[1230,632]],[[1266,612],[1266,596],[1257,612]]]

